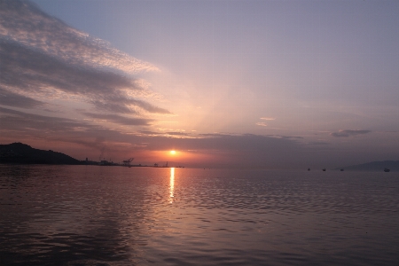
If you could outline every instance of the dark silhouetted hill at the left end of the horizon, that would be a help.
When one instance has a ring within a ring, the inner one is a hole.
[[[0,145],[0,163],[20,164],[81,164],[64,153],[34,149],[22,143]]]

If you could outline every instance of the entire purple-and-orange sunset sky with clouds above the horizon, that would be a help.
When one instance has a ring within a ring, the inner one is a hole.
[[[199,168],[399,160],[397,14],[371,0],[0,0],[0,142]]]

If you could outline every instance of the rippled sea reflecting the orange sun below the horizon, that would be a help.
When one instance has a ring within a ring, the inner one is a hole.
[[[0,265],[399,265],[399,173],[0,165]]]

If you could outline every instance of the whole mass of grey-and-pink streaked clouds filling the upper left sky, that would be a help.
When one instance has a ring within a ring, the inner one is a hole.
[[[112,113],[170,113],[134,97],[152,94],[144,93],[145,81],[129,74],[155,66],[68,27],[27,1],[0,2],[0,61],[8,106],[42,106],[35,96],[43,103],[71,98]]]

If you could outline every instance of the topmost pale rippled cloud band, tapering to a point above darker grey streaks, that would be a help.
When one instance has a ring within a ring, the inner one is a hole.
[[[129,73],[158,70],[67,26],[27,1],[0,2],[0,35],[74,65],[105,66]]]

